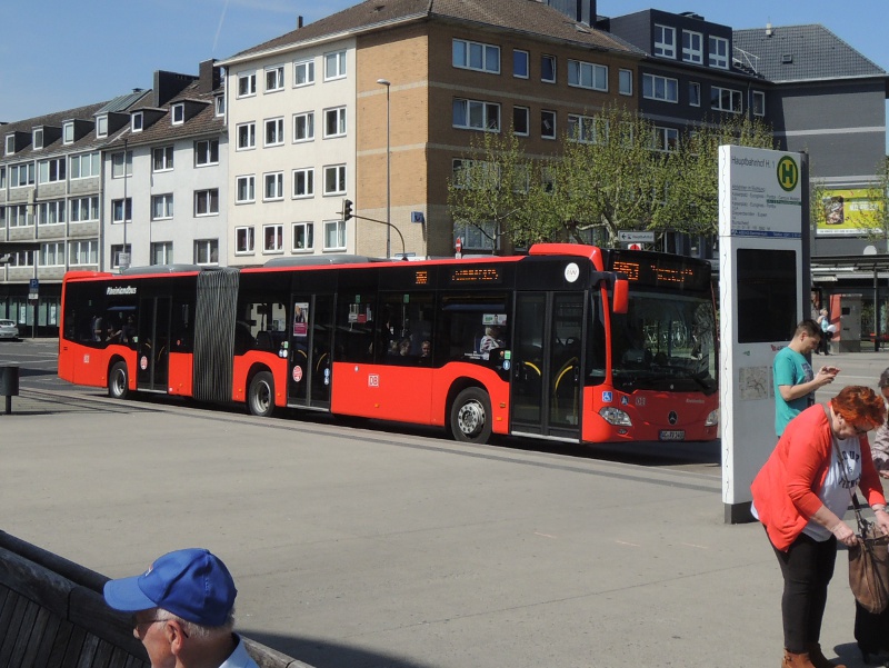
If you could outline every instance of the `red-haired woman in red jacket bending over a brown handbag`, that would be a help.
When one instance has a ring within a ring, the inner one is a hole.
[[[819,639],[837,541],[858,541],[842,521],[856,487],[880,530],[889,534],[866,436],[885,419],[882,397],[867,387],[846,387],[790,421],[753,480],[752,511],[766,527],[785,579],[782,668],[837,668],[821,654]]]

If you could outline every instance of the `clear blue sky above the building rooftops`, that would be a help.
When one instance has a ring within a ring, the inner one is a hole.
[[[417,0],[418,2],[423,0]],[[27,0],[3,8],[0,121],[150,88],[154,70],[197,74],[223,59],[356,4],[354,0]],[[889,71],[889,1],[598,0],[598,13],[693,11],[732,28],[822,23]]]

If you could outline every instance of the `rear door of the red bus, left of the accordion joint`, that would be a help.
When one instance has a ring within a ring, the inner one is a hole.
[[[170,361],[170,298],[147,297],[139,303],[136,385],[166,392]]]

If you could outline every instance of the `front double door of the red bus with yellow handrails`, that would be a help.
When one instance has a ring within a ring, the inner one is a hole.
[[[582,292],[518,292],[511,431],[580,439]]]

